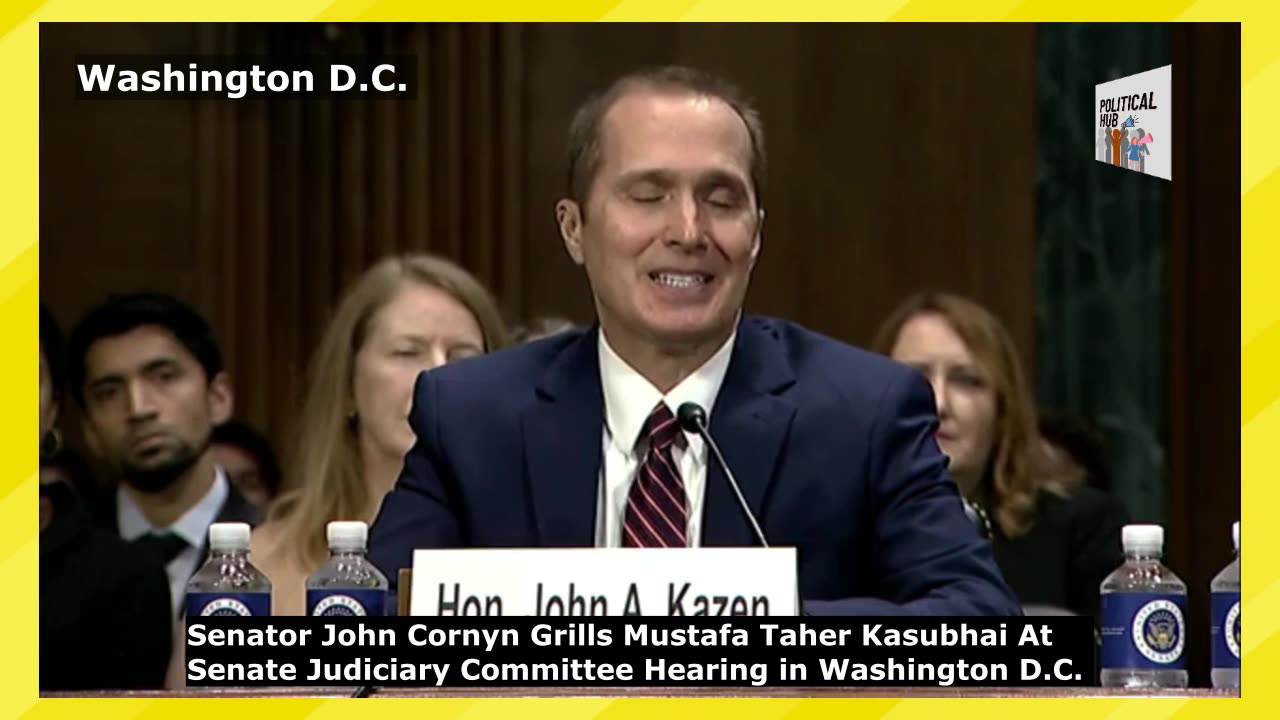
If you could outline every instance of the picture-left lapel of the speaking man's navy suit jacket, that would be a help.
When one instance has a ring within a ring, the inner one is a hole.
[[[595,544],[603,423],[593,329],[556,357],[522,416],[538,546]]]

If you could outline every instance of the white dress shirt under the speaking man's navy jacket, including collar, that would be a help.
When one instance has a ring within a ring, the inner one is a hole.
[[[622,521],[627,507],[627,493],[644,462],[648,441],[640,438],[649,414],[664,401],[672,415],[685,402],[696,402],[707,410],[710,421],[712,406],[719,395],[728,361],[733,354],[730,336],[724,345],[667,395],[658,392],[648,379],[626,364],[609,347],[604,333],[599,333],[600,387],[604,389],[604,454],[600,462],[600,489],[596,493],[595,544],[596,547],[622,547]],[[689,496],[689,547],[701,542],[703,497],[707,491],[707,445],[696,434],[685,433],[689,441],[681,450],[672,447],[672,455]]]

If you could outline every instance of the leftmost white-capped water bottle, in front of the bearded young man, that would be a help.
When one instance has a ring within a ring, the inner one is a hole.
[[[244,523],[209,525],[209,560],[187,583],[187,618],[270,615],[271,580],[248,561]]]

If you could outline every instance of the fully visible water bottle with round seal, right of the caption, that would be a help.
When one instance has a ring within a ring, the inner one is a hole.
[[[1102,685],[1187,687],[1187,585],[1160,557],[1165,529],[1125,525],[1124,565],[1102,580]]]

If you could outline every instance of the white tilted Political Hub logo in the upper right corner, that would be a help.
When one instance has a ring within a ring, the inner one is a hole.
[[[1172,179],[1172,65],[1094,86],[1096,160]]]

